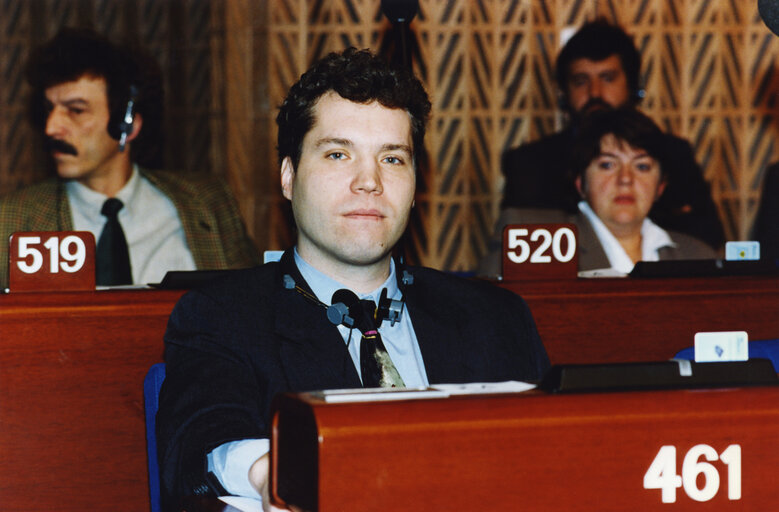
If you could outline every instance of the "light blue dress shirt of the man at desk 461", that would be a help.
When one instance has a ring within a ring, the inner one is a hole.
[[[331,279],[309,265],[295,249],[295,264],[300,274],[311,287],[311,291],[325,304],[330,304],[330,299],[336,290],[346,288],[341,283]],[[403,292],[398,288],[398,280],[395,271],[395,262],[390,260],[390,275],[384,283],[368,294],[357,294],[361,299],[371,299],[379,303],[381,291],[386,288],[387,296],[394,300],[401,300]],[[325,314],[324,309],[322,315]],[[349,355],[354,362],[357,373],[360,373],[360,332],[339,325],[338,331],[347,345]],[[403,378],[406,387],[424,387],[428,385],[425,365],[422,361],[422,352],[411,323],[411,315],[408,309],[403,308],[400,321],[391,326],[389,321],[382,322],[379,334],[387,348],[387,352],[393,364]],[[249,469],[258,458],[270,450],[268,439],[245,439],[222,444],[208,454],[208,470],[212,472],[222,484],[225,490],[235,496],[246,496],[261,499],[259,493],[249,483]]]

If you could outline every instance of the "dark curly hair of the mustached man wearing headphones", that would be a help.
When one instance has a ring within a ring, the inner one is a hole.
[[[145,167],[161,165],[164,92],[159,65],[149,54],[118,46],[88,28],[64,28],[33,50],[25,76],[31,88],[30,121],[39,133],[44,133],[48,116],[46,89],[91,76],[106,81],[111,116],[107,128],[118,137],[134,86],[135,112],[143,118],[143,128],[130,146],[132,160]]]

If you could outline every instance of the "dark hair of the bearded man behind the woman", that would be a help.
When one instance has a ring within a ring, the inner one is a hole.
[[[633,104],[635,105],[641,100],[641,54],[633,43],[633,39],[621,27],[609,23],[603,18],[598,18],[582,25],[557,56],[555,78],[560,92],[565,97],[566,104],[568,102],[571,63],[578,59],[597,62],[612,55],[619,56]]]

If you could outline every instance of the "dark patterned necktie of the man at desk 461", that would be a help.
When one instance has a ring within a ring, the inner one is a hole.
[[[360,338],[360,373],[362,385],[366,388],[402,388],[403,378],[392,363],[384,342],[381,341],[376,322],[376,303],[361,300],[356,305],[355,327],[362,333]]]

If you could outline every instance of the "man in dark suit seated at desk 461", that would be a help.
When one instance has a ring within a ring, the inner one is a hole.
[[[330,315],[339,294],[380,304],[374,328],[396,385],[542,377],[549,361],[520,297],[391,257],[413,207],[429,111],[416,78],[368,51],[330,54],[290,89],[277,123],[295,248],[184,296],[165,335],[157,431],[169,506],[230,493],[262,496],[270,509],[274,395],[369,382],[368,334]],[[394,304],[396,322],[382,322],[381,304]]]

